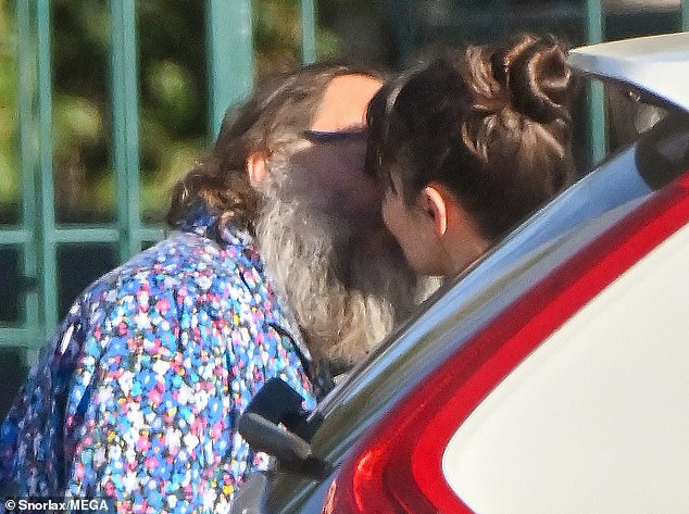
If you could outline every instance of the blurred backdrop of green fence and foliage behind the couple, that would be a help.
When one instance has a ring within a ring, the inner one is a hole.
[[[682,17],[680,0],[0,0],[0,415],[79,291],[163,237],[171,186],[255,82],[330,58],[399,70],[519,30],[573,46],[668,33]],[[577,102],[586,170],[627,135],[590,114],[600,90]]]

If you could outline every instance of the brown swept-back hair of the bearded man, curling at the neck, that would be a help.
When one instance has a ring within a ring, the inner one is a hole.
[[[225,222],[253,233],[261,195],[249,181],[247,159],[252,153],[283,160],[293,154],[326,87],[341,75],[384,74],[365,65],[318,63],[267,82],[230,109],[208,154],[174,186],[167,224],[181,226],[202,203]]]

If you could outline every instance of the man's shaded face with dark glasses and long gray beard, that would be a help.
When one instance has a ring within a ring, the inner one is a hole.
[[[424,288],[416,290],[383,224],[379,190],[362,173],[365,131],[305,137],[310,146],[261,187],[256,240],[328,381],[406,318]]]

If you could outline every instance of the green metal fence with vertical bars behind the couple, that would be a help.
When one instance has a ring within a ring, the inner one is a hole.
[[[302,61],[316,60],[315,0],[301,0]],[[16,226],[0,226],[0,248],[20,254],[21,291],[17,322],[0,326],[0,348],[26,351],[27,361],[58,324],[60,247],[70,243],[110,245],[124,261],[142,246],[162,238],[160,226],[143,224],[139,204],[139,105],[135,0],[111,0],[110,83],[113,113],[113,170],[118,205],[111,224],[78,227],[57,222],[52,170],[52,84],[50,0],[17,0],[18,120],[22,165],[22,215]],[[581,16],[588,42],[604,39],[601,0],[585,0]],[[228,105],[253,86],[251,0],[205,0],[209,67],[209,136],[217,133]],[[499,16],[499,14],[496,14]],[[681,0],[681,26],[689,26],[689,0]],[[403,21],[400,21],[403,23]],[[409,43],[409,41],[408,41]],[[594,160],[605,149],[602,91],[589,98],[589,133]],[[0,299],[0,301],[2,301]]]

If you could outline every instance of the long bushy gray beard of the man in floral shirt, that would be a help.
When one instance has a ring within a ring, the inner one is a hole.
[[[315,362],[351,367],[438,283],[410,269],[379,213],[362,218],[324,209],[322,197],[310,201],[313,192],[273,177],[255,226],[268,276]]]

